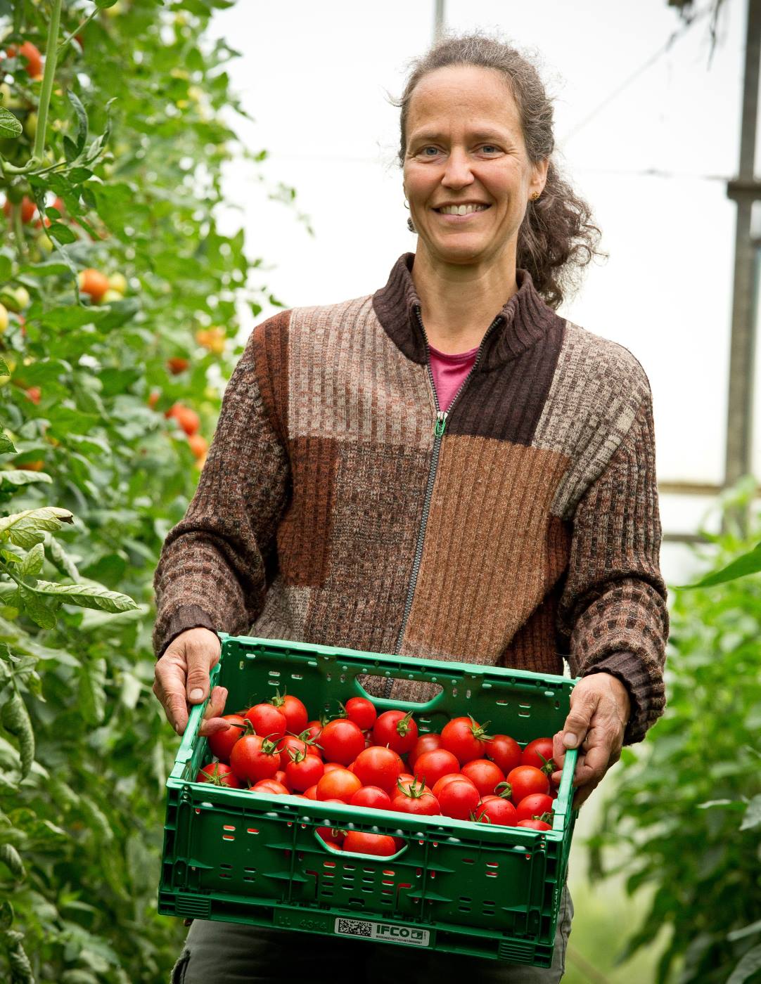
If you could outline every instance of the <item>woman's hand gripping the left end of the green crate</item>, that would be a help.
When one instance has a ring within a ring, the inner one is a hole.
[[[219,663],[221,653],[222,644],[217,633],[211,629],[186,629],[166,646],[157,661],[154,693],[178,735],[184,734],[187,727],[189,707],[206,700],[209,674]],[[227,730],[229,724],[219,716],[226,700],[226,688],[215,687],[204,711],[199,734],[211,735]]]

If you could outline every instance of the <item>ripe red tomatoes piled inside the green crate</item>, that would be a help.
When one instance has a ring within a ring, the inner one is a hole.
[[[550,830],[556,792],[549,783],[552,739],[521,748],[509,735],[487,735],[473,717],[454,717],[441,733],[418,734],[411,711],[378,714],[365,698],[343,716],[309,720],[289,694],[227,714],[226,731],[208,739],[217,758],[197,781],[349,803],[428,817]],[[399,838],[320,828],[333,848],[391,855]]]

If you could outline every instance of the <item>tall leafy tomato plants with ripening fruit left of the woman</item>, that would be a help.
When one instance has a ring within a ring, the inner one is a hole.
[[[270,303],[243,231],[216,218],[223,163],[240,151],[259,166],[222,114],[240,108],[234,52],[206,39],[224,5],[0,4],[0,523],[71,517],[2,543],[0,819],[23,861],[0,866],[3,980],[12,962],[19,980],[28,964],[39,981],[153,984],[186,932],[156,913],[178,738],[152,693],[151,632],[161,543],[201,459],[163,413],[181,402],[211,437],[239,311]],[[108,281],[97,295],[80,286],[89,270]],[[222,352],[195,338],[217,326]],[[176,376],[174,357],[188,363]]]

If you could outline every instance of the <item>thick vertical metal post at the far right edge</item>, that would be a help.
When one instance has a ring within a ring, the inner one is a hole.
[[[725,485],[732,485],[742,475],[748,474],[752,466],[757,246],[751,236],[750,216],[753,202],[761,198],[761,184],[755,180],[760,60],[761,0],[748,0],[739,174],[728,186],[729,197],[737,203],[737,224],[734,238]]]

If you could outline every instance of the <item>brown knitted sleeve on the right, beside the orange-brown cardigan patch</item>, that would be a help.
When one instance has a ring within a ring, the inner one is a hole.
[[[573,518],[558,622],[571,673],[606,672],[626,686],[624,744],[641,741],[666,706],[666,584],[650,389],[623,441]]]

